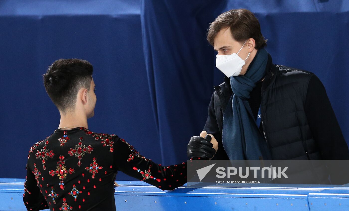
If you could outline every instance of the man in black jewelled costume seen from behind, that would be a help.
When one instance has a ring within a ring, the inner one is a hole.
[[[88,130],[87,119],[94,115],[96,104],[92,71],[87,61],[60,59],[43,76],[61,119],[51,136],[30,148],[23,195],[28,210],[115,210],[117,171],[163,190],[187,181],[186,162],[161,166],[117,135]],[[191,146],[196,143],[192,139]],[[214,138],[200,140],[192,155],[212,158],[217,144]]]

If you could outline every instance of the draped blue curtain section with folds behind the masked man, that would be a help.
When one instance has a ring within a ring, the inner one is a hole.
[[[170,140],[166,144],[180,152],[185,142],[178,144],[177,134],[201,132],[213,86],[224,76],[215,67],[206,30],[233,8],[255,13],[275,64],[311,71],[321,79],[349,141],[349,1],[143,0],[143,49],[159,140]],[[170,163],[181,156],[165,153],[163,160]]]

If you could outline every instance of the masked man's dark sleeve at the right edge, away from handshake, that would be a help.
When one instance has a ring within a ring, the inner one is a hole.
[[[322,159],[349,159],[348,146],[327,97],[325,87],[315,75],[309,81],[304,110],[313,138],[321,151]],[[331,172],[337,171],[331,171],[331,165],[327,167],[331,181],[341,183],[338,178],[342,178],[342,175],[331,174]],[[347,170],[343,169],[343,171]]]

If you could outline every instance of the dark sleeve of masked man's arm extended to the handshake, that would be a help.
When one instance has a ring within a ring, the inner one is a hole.
[[[205,130],[208,134],[212,134],[218,142],[217,153],[212,159],[225,160],[225,159],[229,159],[229,157],[224,151],[223,144],[222,144],[222,134],[217,124],[216,114],[214,110],[214,94],[215,93],[212,94],[211,101],[208,106],[208,116],[207,116],[206,124],[203,130]]]

